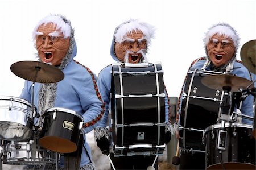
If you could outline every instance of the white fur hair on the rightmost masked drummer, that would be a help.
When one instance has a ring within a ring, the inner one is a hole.
[[[207,44],[209,43],[210,38],[212,38],[212,36],[215,34],[224,35],[226,38],[230,38],[233,41],[233,45],[237,51],[240,44],[239,35],[237,34],[237,31],[234,30],[234,28],[227,23],[218,23],[209,28],[204,38],[205,48],[207,47]]]

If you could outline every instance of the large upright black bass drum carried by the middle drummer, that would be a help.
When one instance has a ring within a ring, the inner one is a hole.
[[[160,64],[112,66],[114,155],[161,155],[165,103]]]

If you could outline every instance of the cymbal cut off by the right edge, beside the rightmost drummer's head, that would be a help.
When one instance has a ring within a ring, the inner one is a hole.
[[[241,60],[250,72],[256,74],[256,40],[250,40],[241,48]]]

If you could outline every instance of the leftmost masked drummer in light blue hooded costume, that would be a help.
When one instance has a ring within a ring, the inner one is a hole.
[[[80,149],[75,151],[77,157],[69,154],[61,156],[60,168],[65,164],[65,169],[94,169],[91,149],[85,134],[98,125],[105,105],[98,92],[95,74],[73,59],[77,48],[71,22],[62,15],[46,16],[34,28],[33,38],[38,60],[51,64],[64,73],[62,81],[51,84],[35,83],[34,103],[40,115],[35,127],[40,129],[43,126],[42,115],[51,107],[63,107],[80,113],[84,118],[84,139],[80,140],[84,140],[84,144],[78,146]],[[44,76],[47,78],[53,75],[54,72],[45,73]],[[20,98],[31,102],[32,89],[32,82],[26,80]]]

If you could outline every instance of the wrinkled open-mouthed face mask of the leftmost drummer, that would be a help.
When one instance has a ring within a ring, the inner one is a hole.
[[[42,24],[37,31],[40,34],[36,36],[36,49],[40,59],[44,63],[60,65],[68,52],[70,39],[64,39],[64,35],[52,23]]]

